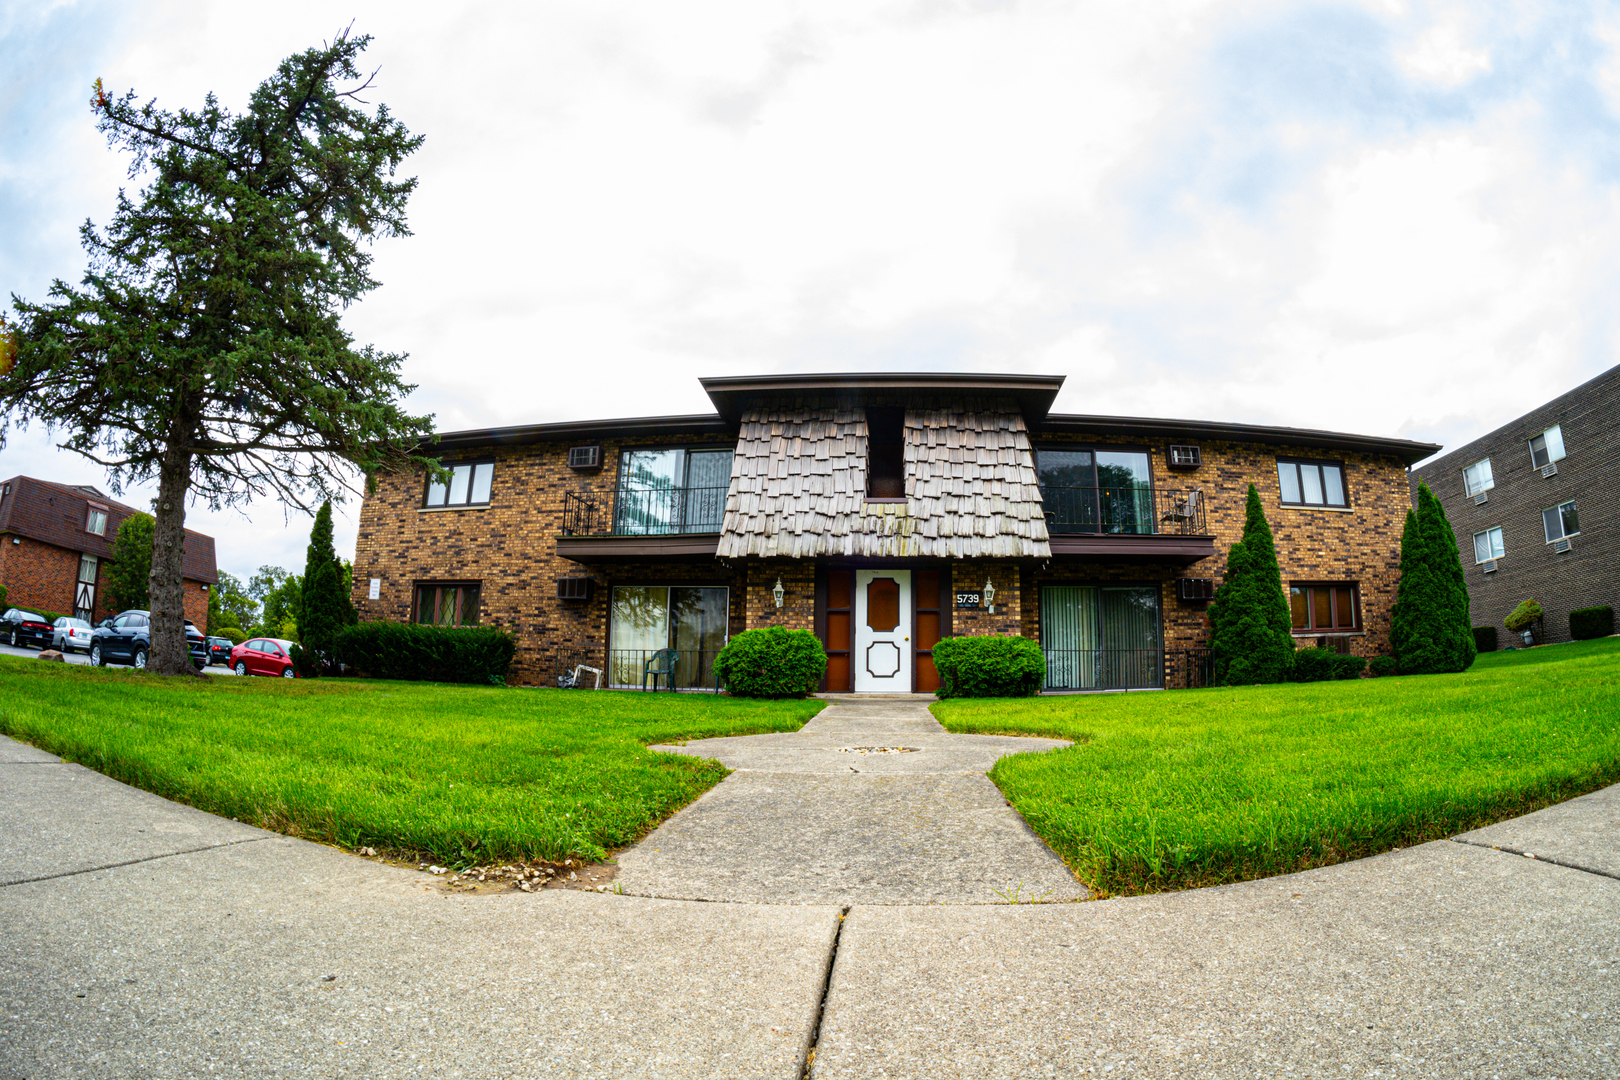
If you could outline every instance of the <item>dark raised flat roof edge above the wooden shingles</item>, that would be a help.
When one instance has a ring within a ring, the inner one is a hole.
[[[1000,376],[1000,374],[922,374],[922,372],[873,372],[873,374],[802,374],[802,376],[726,376],[698,379],[714,402],[714,408],[731,424],[742,421],[744,410],[781,398],[831,397],[838,402],[859,405],[868,393],[902,390],[906,393],[956,393],[985,397],[1011,397],[1024,413],[1024,423],[1034,426],[1051,408],[1063,389],[1063,376]]]

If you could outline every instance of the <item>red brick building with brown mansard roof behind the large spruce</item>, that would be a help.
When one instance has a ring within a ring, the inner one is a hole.
[[[102,581],[118,526],[134,513],[87,484],[31,476],[0,483],[0,585],[6,606],[99,622],[117,614]],[[219,581],[214,538],[186,529],[186,619],[207,627],[207,591]]]

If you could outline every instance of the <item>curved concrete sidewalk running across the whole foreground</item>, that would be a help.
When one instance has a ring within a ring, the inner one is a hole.
[[[1612,787],[1092,904],[454,895],[0,738],[0,1080],[1607,1080],[1617,866]]]

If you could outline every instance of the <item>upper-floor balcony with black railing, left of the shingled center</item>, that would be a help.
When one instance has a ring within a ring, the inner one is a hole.
[[[573,562],[713,559],[724,518],[724,486],[570,491],[557,554]]]

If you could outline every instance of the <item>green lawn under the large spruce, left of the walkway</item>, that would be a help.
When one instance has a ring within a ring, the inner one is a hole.
[[[726,776],[648,743],[794,732],[821,706],[0,657],[0,733],[266,829],[450,866],[601,858]]]

